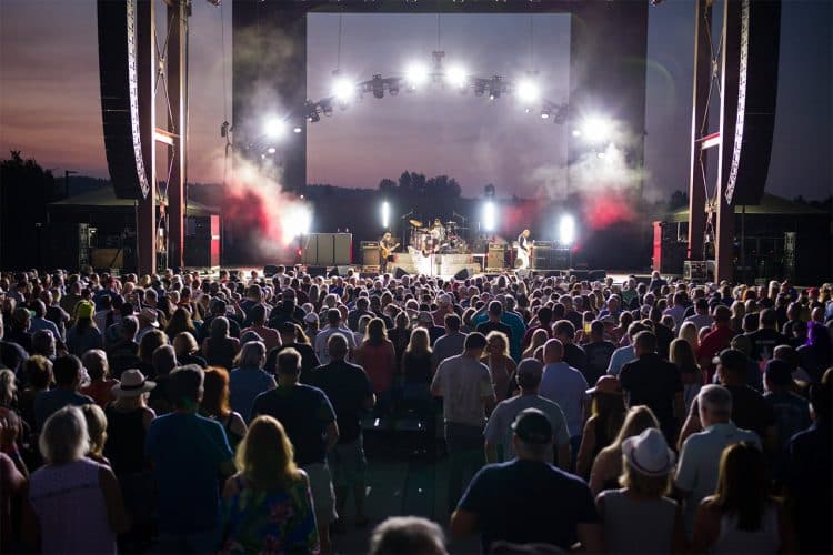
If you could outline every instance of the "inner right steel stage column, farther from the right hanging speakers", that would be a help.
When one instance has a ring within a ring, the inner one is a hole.
[[[709,110],[709,85],[712,81],[712,54],[709,47],[709,26],[712,21],[712,1],[695,1],[694,27],[694,100],[691,115],[691,174],[689,180],[689,260],[704,260],[703,233],[705,232],[705,175],[700,167],[703,143],[701,135],[709,133],[703,118]],[[703,168],[707,153],[703,152]]]

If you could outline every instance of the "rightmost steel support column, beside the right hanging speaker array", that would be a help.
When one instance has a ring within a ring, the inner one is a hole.
[[[741,61],[741,6],[743,0],[723,0],[723,59],[721,62],[720,159],[717,161],[714,280],[732,280],[734,273],[734,206],[726,202],[737,120],[737,85]]]

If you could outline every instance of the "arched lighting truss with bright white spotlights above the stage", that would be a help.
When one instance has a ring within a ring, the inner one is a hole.
[[[526,74],[518,82],[509,81],[502,75],[476,77],[469,73],[462,65],[452,64],[446,68],[444,57],[445,52],[434,51],[432,64],[413,62],[408,65],[402,75],[383,77],[381,73],[375,73],[370,80],[354,84],[348,82],[339,72],[334,72],[337,80],[333,83],[332,94],[318,101],[308,100],[303,107],[302,119],[308,123],[317,123],[321,121],[321,115],[332,115],[334,105],[347,109],[352,102],[361,101],[365,94],[372,94],[374,99],[381,100],[385,92],[395,97],[402,89],[407,92],[415,92],[434,84],[456,90],[461,94],[465,94],[471,89],[475,97],[488,95],[492,101],[499,100],[502,95],[514,97],[526,113],[538,114],[541,120],[552,121],[558,125],[566,122],[568,104],[543,98],[534,74]]]

